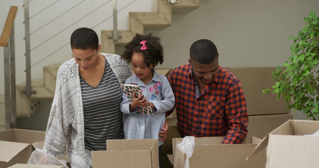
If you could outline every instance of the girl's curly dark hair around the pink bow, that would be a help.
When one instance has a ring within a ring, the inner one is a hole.
[[[141,50],[143,45],[140,44],[140,42],[145,40],[147,49]],[[128,63],[132,61],[134,53],[143,54],[144,62],[147,67],[150,67],[150,65],[155,67],[158,63],[162,64],[164,61],[163,46],[160,44],[160,38],[152,36],[151,33],[148,35],[136,34],[136,36],[124,48],[125,50],[121,57]]]

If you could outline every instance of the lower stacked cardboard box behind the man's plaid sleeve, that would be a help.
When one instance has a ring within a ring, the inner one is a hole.
[[[248,135],[262,139],[272,130],[279,127],[288,120],[293,119],[292,114],[275,114],[275,115],[253,115],[248,116]],[[250,143],[250,139],[247,139]]]

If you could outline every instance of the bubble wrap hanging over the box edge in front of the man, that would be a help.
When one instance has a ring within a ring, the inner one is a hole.
[[[186,154],[186,160],[184,164],[184,168],[190,168],[189,167],[189,157],[192,156],[195,146],[195,137],[194,136],[185,136],[182,140],[182,142],[177,146],[177,149],[179,149],[181,152]]]

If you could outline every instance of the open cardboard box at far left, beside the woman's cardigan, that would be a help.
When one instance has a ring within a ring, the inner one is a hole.
[[[0,131],[0,167],[26,164],[38,142],[44,141],[44,131],[8,129]]]

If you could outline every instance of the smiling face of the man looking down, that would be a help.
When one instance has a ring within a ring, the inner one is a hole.
[[[209,64],[200,64],[190,59],[189,63],[193,67],[195,78],[205,85],[211,83],[214,76],[218,73],[218,57]]]

